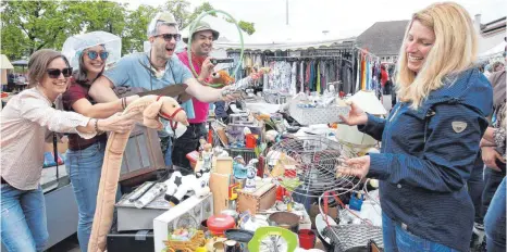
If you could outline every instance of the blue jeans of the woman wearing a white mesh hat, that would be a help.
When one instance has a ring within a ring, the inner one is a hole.
[[[74,196],[76,197],[79,220],[77,223],[77,239],[81,251],[88,251],[88,241],[94,224],[97,194],[106,151],[106,142],[96,142],[90,147],[66,152],[65,167],[71,178]],[[116,201],[120,199],[120,188]]]

